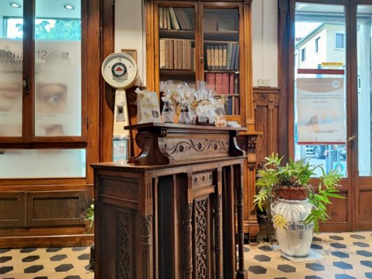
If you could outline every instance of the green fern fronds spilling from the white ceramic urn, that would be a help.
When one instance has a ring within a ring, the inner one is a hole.
[[[253,202],[257,204],[260,211],[263,211],[263,204],[270,197],[275,200],[278,197],[278,190],[281,187],[302,187],[308,192],[308,202],[313,204],[313,210],[304,220],[305,224],[314,223],[314,230],[318,234],[319,222],[329,219],[327,214],[327,204],[331,204],[330,197],[344,199],[338,195],[338,182],[341,174],[336,170],[325,173],[321,165],[311,165],[304,160],[294,161],[290,158],[289,162],[281,165],[283,157],[279,158],[278,153],[272,153],[265,158],[263,169],[258,170],[260,179],[256,182],[258,194],[255,195]],[[315,193],[310,183],[311,176],[315,174],[315,169],[321,169],[322,176],[319,178],[318,193]]]

